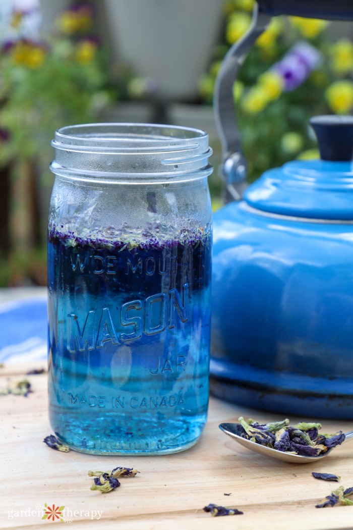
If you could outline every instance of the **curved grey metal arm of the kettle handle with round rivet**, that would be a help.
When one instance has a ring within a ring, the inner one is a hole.
[[[235,117],[233,84],[239,67],[254,42],[268,27],[270,20],[271,15],[261,11],[255,2],[249,30],[229,49],[216,77],[213,109],[216,129],[222,144],[220,176],[225,183],[225,202],[241,199],[247,178],[247,162],[242,154]]]

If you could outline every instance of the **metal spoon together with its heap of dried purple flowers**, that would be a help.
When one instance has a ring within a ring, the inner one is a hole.
[[[353,430],[343,434],[319,434],[321,423],[300,422],[289,426],[289,420],[263,423],[246,421],[221,423],[220,429],[240,445],[261,455],[283,462],[306,464],[325,458],[334,447],[353,437]]]

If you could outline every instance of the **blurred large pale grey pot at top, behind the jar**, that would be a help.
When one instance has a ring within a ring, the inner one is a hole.
[[[156,97],[197,96],[223,18],[220,0],[105,0],[114,59],[153,78]]]

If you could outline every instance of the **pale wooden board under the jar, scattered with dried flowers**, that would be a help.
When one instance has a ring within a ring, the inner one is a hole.
[[[38,515],[44,503],[78,513],[69,525],[73,530],[88,526],[133,530],[353,528],[353,506],[315,508],[340,484],[353,486],[353,444],[349,441],[315,465],[279,463],[238,446],[218,425],[236,421],[240,415],[260,422],[282,418],[211,398],[209,420],[200,441],[183,453],[151,457],[61,453],[42,443],[52,434],[47,374],[24,375],[41,366],[0,368],[0,388],[24,377],[33,388],[27,398],[0,397],[0,528],[48,528],[53,523]],[[353,422],[322,423],[323,432],[353,427]],[[121,487],[110,493],[90,491],[89,470],[108,471],[116,466],[134,467],[140,473],[122,479]],[[336,473],[341,482],[315,480],[312,471]],[[236,507],[244,515],[212,517],[202,509],[210,502]],[[92,511],[99,511],[101,518],[97,520],[97,513],[92,520]]]

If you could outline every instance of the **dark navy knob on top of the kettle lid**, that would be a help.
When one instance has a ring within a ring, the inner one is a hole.
[[[314,116],[310,125],[318,138],[321,160],[352,160],[353,116]]]

